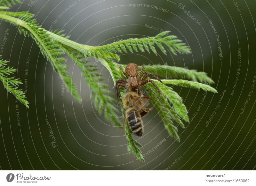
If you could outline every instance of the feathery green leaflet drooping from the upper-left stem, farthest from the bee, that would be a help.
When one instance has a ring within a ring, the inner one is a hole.
[[[27,11],[5,12],[5,14],[17,17],[23,22],[25,26],[19,27],[19,32],[23,33],[25,36],[30,35],[36,41],[43,56],[52,64],[53,69],[60,75],[68,90],[78,101],[80,101],[81,97],[77,92],[76,85],[73,82],[72,77],[68,75],[67,66],[64,64],[66,59],[65,57],[61,57],[64,55],[61,45],[52,41],[52,38],[49,37],[47,31],[36,23],[36,19],[33,19],[33,14]],[[62,35],[63,31],[55,31],[54,33],[56,35]]]

